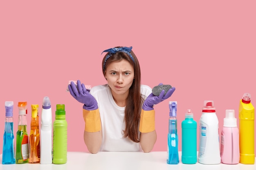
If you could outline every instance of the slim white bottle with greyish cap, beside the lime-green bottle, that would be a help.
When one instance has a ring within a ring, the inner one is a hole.
[[[40,163],[52,163],[52,108],[49,97],[43,98],[40,132]]]

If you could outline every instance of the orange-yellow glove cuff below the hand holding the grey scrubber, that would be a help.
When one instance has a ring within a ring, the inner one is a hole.
[[[155,130],[155,110],[141,110],[139,131],[141,133],[148,133]]]

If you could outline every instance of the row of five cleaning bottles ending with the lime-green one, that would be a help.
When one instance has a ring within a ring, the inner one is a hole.
[[[39,133],[38,104],[31,105],[31,131],[27,133],[27,102],[18,102],[18,131],[16,154],[13,136],[13,101],[5,102],[5,128],[2,164],[41,163],[63,164],[67,162],[67,121],[65,105],[56,105],[56,119],[52,140],[52,109],[49,97],[44,97]],[[41,140],[41,142],[40,142]],[[53,149],[52,149],[53,142]]]

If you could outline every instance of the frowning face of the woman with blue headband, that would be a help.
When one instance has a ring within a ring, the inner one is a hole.
[[[133,66],[127,60],[112,62],[106,68],[105,78],[112,89],[112,94],[128,95],[134,79]]]

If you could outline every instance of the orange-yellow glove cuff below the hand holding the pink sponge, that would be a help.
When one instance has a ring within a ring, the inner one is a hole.
[[[99,108],[96,110],[83,109],[83,119],[85,121],[86,132],[98,132],[101,130],[101,118]]]

